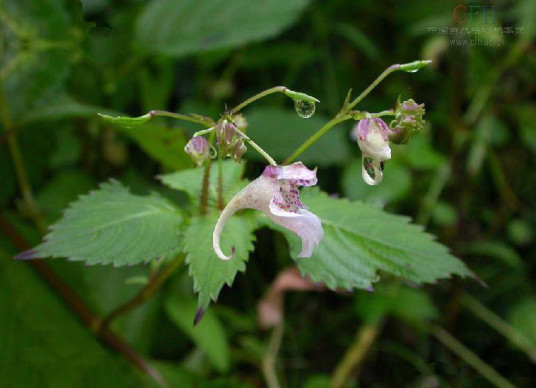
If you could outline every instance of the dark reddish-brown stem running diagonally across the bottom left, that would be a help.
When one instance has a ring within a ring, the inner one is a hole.
[[[30,244],[26,239],[2,216],[0,215],[0,230],[14,243],[20,251],[30,249]],[[61,296],[63,302],[74,311],[82,322],[90,329],[90,331],[98,336],[104,343],[112,349],[122,354],[126,359],[132,362],[139,370],[151,376],[155,381],[163,387],[168,384],[160,374],[147,360],[139,355],[128,344],[123,342],[121,338],[115,335],[111,330],[104,328],[96,332],[95,328],[99,322],[99,318],[89,309],[89,307],[80,299],[80,297],[60,278],[58,277],[44,261],[32,260],[27,261],[28,265]]]

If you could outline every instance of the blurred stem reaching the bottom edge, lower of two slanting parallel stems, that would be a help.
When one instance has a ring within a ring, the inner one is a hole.
[[[427,330],[436,337],[439,342],[455,353],[468,365],[472,366],[478,373],[486,378],[491,384],[499,388],[515,388],[515,386],[501,376],[495,369],[484,362],[480,357],[465,347],[460,341],[440,326],[428,324]]]

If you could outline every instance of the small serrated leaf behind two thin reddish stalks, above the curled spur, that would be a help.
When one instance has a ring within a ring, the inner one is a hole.
[[[204,168],[191,168],[182,170],[173,174],[161,175],[159,179],[169,187],[175,190],[184,191],[192,202],[197,203],[201,195],[201,183],[203,182]],[[222,162],[223,173],[223,197],[229,201],[238,191],[240,191],[246,182],[241,180],[244,165],[235,163],[232,160]],[[210,189],[209,201],[215,203],[218,188],[218,162],[215,161],[210,167]]]

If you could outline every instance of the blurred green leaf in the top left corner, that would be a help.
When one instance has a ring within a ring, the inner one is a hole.
[[[0,85],[12,123],[24,122],[27,114],[62,93],[69,57],[79,50],[88,29],[81,8],[64,0],[2,2]]]

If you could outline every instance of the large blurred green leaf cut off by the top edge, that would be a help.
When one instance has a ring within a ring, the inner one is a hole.
[[[287,28],[309,0],[157,0],[136,25],[136,41],[146,52],[180,57],[242,46]]]

